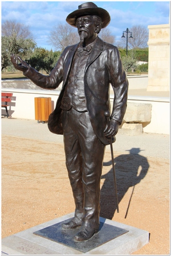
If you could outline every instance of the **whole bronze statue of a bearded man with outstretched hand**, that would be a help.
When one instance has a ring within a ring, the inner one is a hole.
[[[88,2],[68,15],[80,42],[68,46],[50,75],[42,75],[11,55],[16,69],[44,89],[63,81],[55,110],[48,119],[52,133],[63,134],[68,177],[75,200],[75,216],[63,229],[78,228],[75,241],[86,241],[99,231],[100,177],[105,145],[115,141],[127,107],[128,81],[117,47],[97,34],[110,22],[109,13]],[[104,112],[110,110],[109,90],[115,97],[109,127]]]

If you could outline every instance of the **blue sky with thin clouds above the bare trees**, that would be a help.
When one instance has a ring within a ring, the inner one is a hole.
[[[1,1],[2,23],[15,19],[30,27],[38,47],[54,50],[48,45],[50,30],[86,1]],[[169,1],[93,1],[111,15],[108,28],[119,41],[123,31],[135,25],[169,23]]]

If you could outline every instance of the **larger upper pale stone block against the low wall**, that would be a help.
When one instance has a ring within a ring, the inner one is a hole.
[[[126,123],[150,122],[152,117],[152,104],[128,102],[127,110],[124,115]]]

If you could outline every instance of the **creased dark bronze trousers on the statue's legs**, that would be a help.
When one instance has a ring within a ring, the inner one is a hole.
[[[64,150],[75,200],[75,216],[82,225],[99,227],[100,178],[105,145],[92,129],[88,112],[63,111]]]

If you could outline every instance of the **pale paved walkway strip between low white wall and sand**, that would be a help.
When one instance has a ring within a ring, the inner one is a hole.
[[[63,135],[56,135],[48,130],[47,123],[38,123],[35,120],[1,118],[3,134],[15,137],[38,139],[63,143]],[[106,150],[110,150],[107,146]],[[156,157],[169,159],[169,135],[143,133],[141,135],[124,135],[121,130],[116,135],[113,151],[127,154],[131,150],[133,154],[144,157]]]

